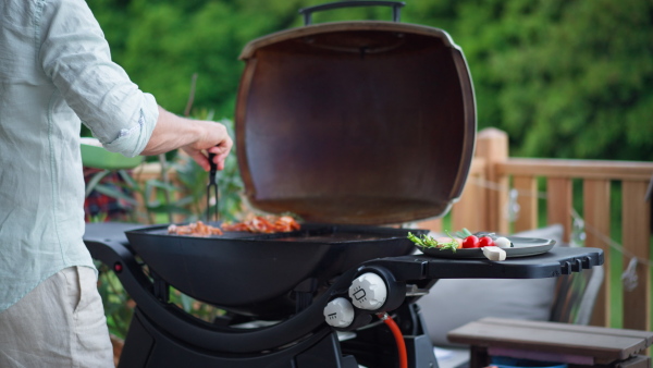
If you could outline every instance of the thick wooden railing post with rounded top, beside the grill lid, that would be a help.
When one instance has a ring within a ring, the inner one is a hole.
[[[485,177],[494,188],[485,188],[486,231],[509,233],[505,216],[508,203],[508,177],[500,174],[497,164],[508,159],[508,135],[495,127],[486,127],[477,137],[476,156],[485,160]],[[498,189],[497,189],[498,188]]]

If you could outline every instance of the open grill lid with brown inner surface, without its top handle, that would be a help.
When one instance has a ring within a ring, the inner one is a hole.
[[[459,197],[476,109],[445,32],[325,23],[256,39],[241,59],[237,156],[254,207],[387,224],[442,216]]]

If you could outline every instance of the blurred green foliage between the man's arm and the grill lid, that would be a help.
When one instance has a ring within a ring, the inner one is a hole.
[[[121,64],[159,105],[181,113],[198,73],[194,106],[233,116],[243,46],[294,21],[296,5],[251,1],[88,2]],[[272,15],[272,16],[271,16]]]

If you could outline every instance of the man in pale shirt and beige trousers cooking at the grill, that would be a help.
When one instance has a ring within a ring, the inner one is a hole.
[[[160,108],[111,62],[83,0],[0,0],[0,367],[112,367],[82,241],[81,122],[133,157],[224,167],[224,126]]]

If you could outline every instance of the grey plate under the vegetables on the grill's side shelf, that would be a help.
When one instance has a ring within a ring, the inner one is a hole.
[[[528,257],[534,255],[541,255],[553,248],[555,241],[535,237],[518,237],[507,236],[513,243],[510,248],[502,248],[506,252],[506,258],[513,257]],[[423,254],[431,257],[439,258],[485,258],[481,248],[466,248],[466,249],[440,249],[440,248],[424,248],[418,246]]]

